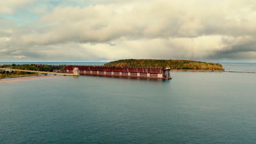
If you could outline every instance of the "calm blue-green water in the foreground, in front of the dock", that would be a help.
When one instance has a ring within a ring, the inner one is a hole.
[[[0,143],[256,143],[256,76],[0,83]]]

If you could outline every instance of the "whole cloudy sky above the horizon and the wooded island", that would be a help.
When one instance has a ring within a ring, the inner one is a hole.
[[[255,0],[0,1],[0,61],[256,62]]]

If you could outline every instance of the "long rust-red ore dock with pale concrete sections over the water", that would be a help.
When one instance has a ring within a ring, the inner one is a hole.
[[[78,68],[80,75],[108,75],[144,77],[150,79],[171,79],[170,68],[68,65],[66,66],[67,73],[73,73],[74,68]]]

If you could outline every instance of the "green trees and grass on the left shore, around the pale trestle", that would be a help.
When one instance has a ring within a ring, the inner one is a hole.
[[[47,67],[47,65],[44,65],[43,67],[38,67],[37,64],[5,64],[0,65],[0,68],[11,68],[11,69],[25,69],[25,70],[37,70],[37,71],[49,71],[52,72],[55,67]],[[60,70],[64,70],[65,68],[57,68]],[[11,78],[11,77],[23,77],[23,76],[32,76],[32,75],[38,75],[34,73],[28,73],[23,71],[0,71],[0,79],[1,78]]]

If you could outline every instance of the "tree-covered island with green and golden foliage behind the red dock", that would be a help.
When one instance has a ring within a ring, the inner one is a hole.
[[[162,67],[171,69],[224,70],[219,63],[173,59],[122,59],[104,65],[112,67]]]

